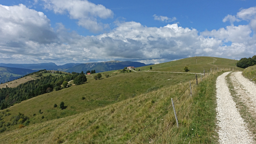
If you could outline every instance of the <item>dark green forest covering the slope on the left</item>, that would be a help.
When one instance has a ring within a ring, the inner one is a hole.
[[[72,74],[73,75],[69,74],[66,76],[42,76],[39,79],[20,84],[15,88],[2,88],[0,89],[0,109],[5,109],[15,103],[20,103],[23,100],[28,100],[38,95],[51,92],[53,89],[58,91],[61,89],[61,84],[64,81],[68,82],[74,80],[77,76],[84,75],[84,72],[72,72]]]

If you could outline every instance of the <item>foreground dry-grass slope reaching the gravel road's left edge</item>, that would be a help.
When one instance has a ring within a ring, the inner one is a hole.
[[[131,143],[217,143],[215,83],[219,72],[207,75],[198,85],[189,80],[164,86],[136,97],[84,113],[29,125],[0,134],[3,143],[127,143],[171,106],[179,111],[179,128],[172,107],[135,137]],[[183,105],[183,103],[185,104]],[[183,107],[182,107],[183,106]],[[181,108],[182,107],[182,108]],[[192,130],[193,129],[193,130]]]

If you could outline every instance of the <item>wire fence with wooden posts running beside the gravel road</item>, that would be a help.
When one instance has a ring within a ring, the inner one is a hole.
[[[230,69],[230,68],[229,68]],[[226,70],[229,70],[228,68],[226,68]],[[210,74],[213,74],[213,72],[218,72],[217,70],[215,70],[214,69],[214,71],[212,70],[212,69],[209,69],[210,70]],[[209,71],[209,70],[207,70],[207,71]],[[224,68],[221,68],[221,71],[224,71],[225,69]],[[205,72],[205,70],[204,70],[204,72]],[[202,79],[205,79],[204,77],[205,77],[205,75],[204,75],[204,73],[202,73],[201,74],[201,76],[202,76]],[[187,100],[188,100],[188,98],[189,97],[192,97],[192,90],[194,90],[194,88],[196,88],[196,86],[198,85],[198,83],[196,83],[195,82],[195,80],[197,81],[197,82],[201,82],[200,80],[198,80],[197,79],[197,76],[196,76],[196,78],[194,78],[194,80],[192,81],[192,83],[190,83],[189,84],[189,86],[186,88],[186,90],[184,91],[184,92],[182,92],[182,94],[177,98],[177,100],[175,100],[174,102],[173,102],[173,106],[174,106],[174,104],[176,103],[176,102],[178,102],[178,100],[180,99],[180,98],[182,98],[182,96],[186,96],[185,97],[185,101],[183,102],[183,104],[181,105],[181,107],[179,108],[179,110],[178,110],[178,112],[176,113],[176,114],[179,114],[180,113],[180,110],[182,110],[182,108],[184,108],[184,105],[185,105],[185,103],[187,102]],[[195,83],[194,83],[195,82]],[[191,87],[192,86],[192,87]],[[190,90],[190,92],[187,94],[187,95],[184,95],[186,92],[187,92],[187,90],[189,89],[191,87],[191,90]],[[153,122],[155,122],[159,117],[161,117],[164,113],[166,113],[168,110],[170,110],[170,108],[173,108],[173,106],[171,105],[170,107],[168,107],[163,113],[161,113],[158,117],[156,117],[152,122],[150,122],[150,124],[152,124]],[[174,106],[175,107],[175,106]],[[175,112],[175,108],[173,108],[174,109],[174,112]],[[176,114],[175,114],[175,116],[176,116]],[[165,129],[163,130],[163,132],[161,132],[161,134],[156,138],[156,140],[154,140],[154,142],[153,143],[155,143],[157,140],[158,140],[158,138],[159,137],[161,137],[162,136],[162,134],[167,130],[167,128],[169,127],[169,125],[172,123],[172,122],[174,122],[174,120],[175,119],[172,119],[172,121],[170,121],[167,125],[166,125],[166,127],[165,127]],[[133,136],[132,137],[132,139],[131,140],[129,140],[126,144],[128,144],[129,142],[131,142],[134,138],[136,138],[143,130],[145,130],[150,124],[148,124],[146,127],[144,127],[142,130],[140,130],[140,132],[138,132],[135,136]],[[175,126],[175,125],[174,125]],[[178,122],[177,122],[177,126],[178,126]]]

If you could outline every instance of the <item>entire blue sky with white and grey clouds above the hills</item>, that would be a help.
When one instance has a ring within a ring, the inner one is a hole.
[[[256,55],[255,0],[0,0],[0,63]]]

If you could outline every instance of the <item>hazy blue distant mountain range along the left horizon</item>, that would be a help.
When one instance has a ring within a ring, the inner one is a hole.
[[[153,65],[153,64],[148,64]],[[5,64],[0,63],[0,83],[12,81],[13,79],[17,79],[21,76],[27,75],[29,73],[35,72],[40,69],[46,70],[59,70],[64,72],[78,72],[88,70],[94,70],[96,73],[123,69],[124,67],[143,67],[148,66],[141,62],[134,61],[106,61],[106,62],[90,62],[90,63],[67,63],[65,65],[56,65],[55,63],[38,63],[38,64]]]

